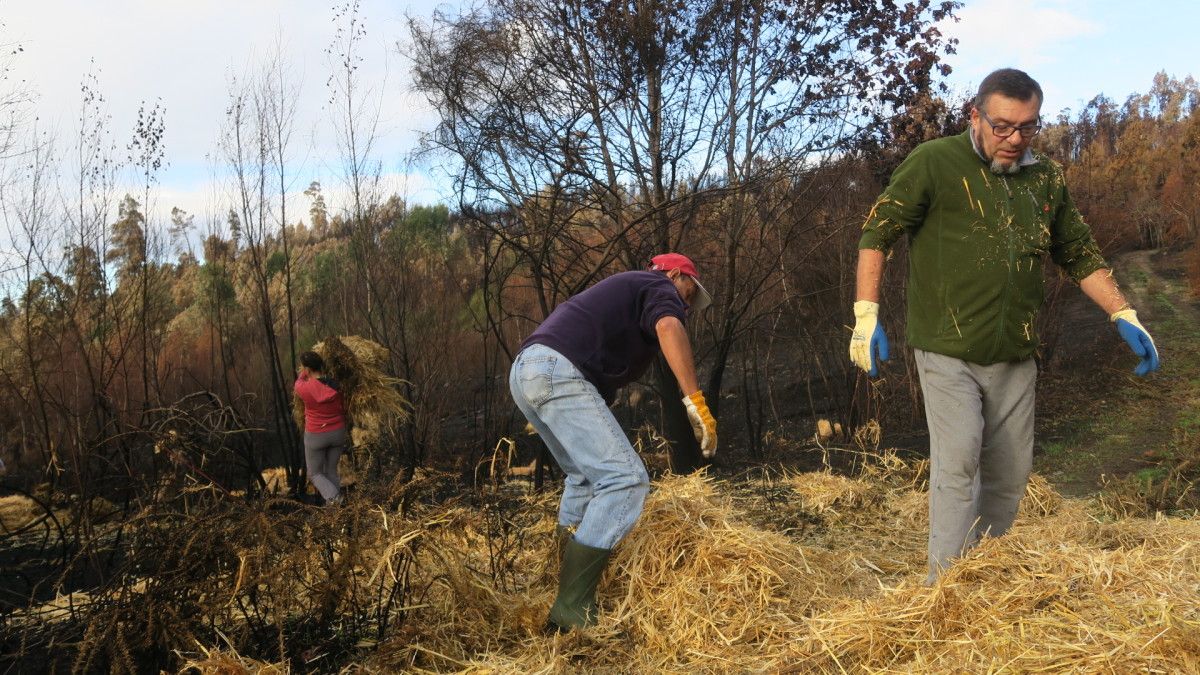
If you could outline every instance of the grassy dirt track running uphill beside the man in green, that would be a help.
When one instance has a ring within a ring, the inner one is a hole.
[[[1034,468],[1068,495],[1097,491],[1106,480],[1151,477],[1177,449],[1180,434],[1200,431],[1196,325],[1180,253],[1134,251],[1114,270],[1138,316],[1154,336],[1163,369],[1132,375],[1136,360],[1111,324],[1078,289],[1064,297],[1063,338],[1039,382]]]

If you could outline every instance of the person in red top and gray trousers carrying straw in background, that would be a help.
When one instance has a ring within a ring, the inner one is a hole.
[[[317,352],[300,354],[300,375],[294,390],[304,401],[304,459],[308,480],[326,504],[342,501],[337,460],[349,444],[346,407],[337,382],[322,374],[324,359]]]

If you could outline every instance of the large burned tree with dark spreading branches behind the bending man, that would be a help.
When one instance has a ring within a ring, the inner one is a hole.
[[[779,310],[756,298],[812,246],[804,177],[946,72],[935,23],[955,6],[494,0],[413,22],[416,88],[439,115],[426,147],[454,160],[497,263],[482,283],[500,348],[602,274],[680,249],[720,270],[724,306],[706,317],[719,400],[734,341]],[[714,213],[716,237],[698,227]],[[692,468],[658,370],[674,465]]]

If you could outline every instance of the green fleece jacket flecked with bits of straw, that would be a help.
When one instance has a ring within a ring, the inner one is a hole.
[[[1108,265],[1062,167],[1034,153],[1020,172],[994,174],[970,133],[905,159],[858,246],[887,252],[908,234],[910,345],[978,364],[1027,359],[1045,255],[1076,282]]]

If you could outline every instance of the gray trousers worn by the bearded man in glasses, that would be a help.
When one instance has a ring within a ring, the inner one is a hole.
[[[1033,465],[1033,359],[979,365],[917,350],[929,423],[929,577],[1016,519]]]

